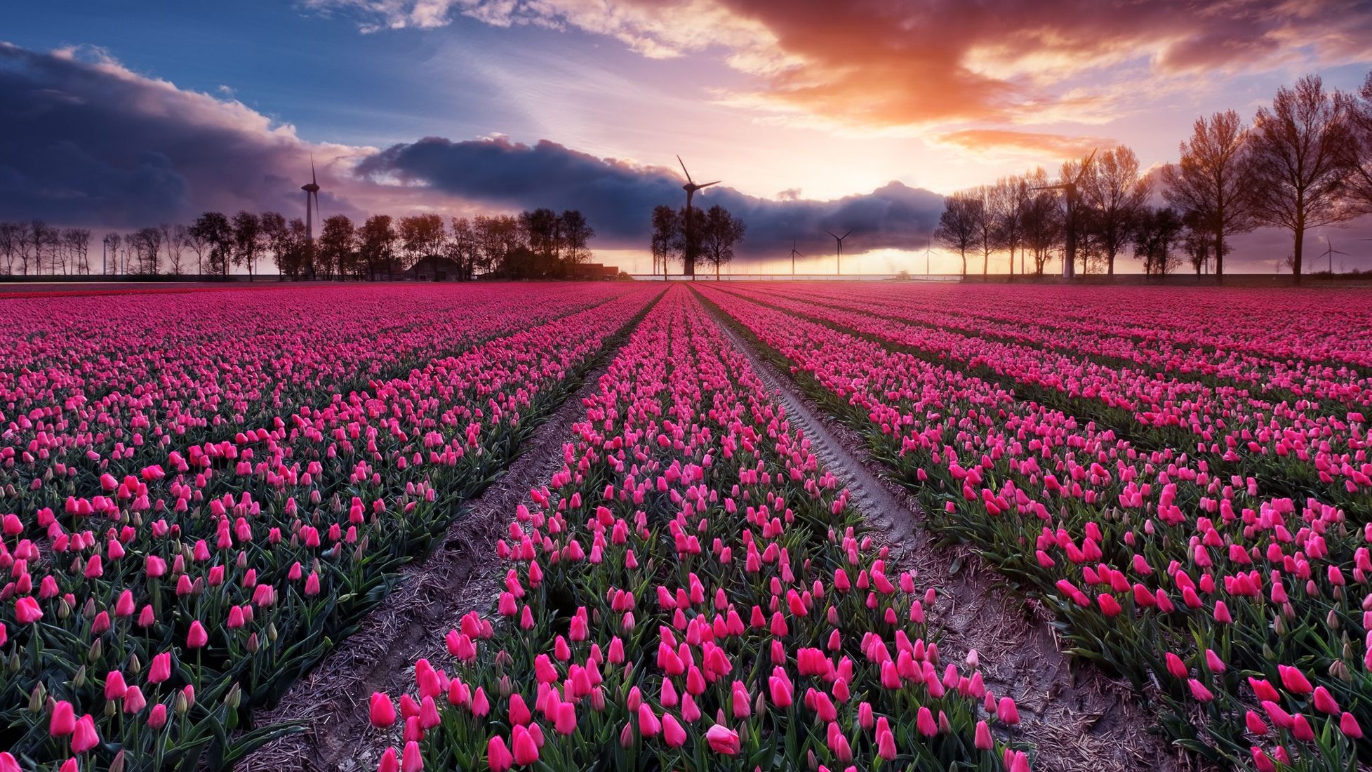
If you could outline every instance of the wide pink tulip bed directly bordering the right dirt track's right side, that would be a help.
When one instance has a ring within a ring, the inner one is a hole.
[[[701,292],[862,432],[930,524],[1055,610],[1074,653],[1155,691],[1211,760],[1342,769],[1372,758],[1372,529],[1139,448],[963,367]]]

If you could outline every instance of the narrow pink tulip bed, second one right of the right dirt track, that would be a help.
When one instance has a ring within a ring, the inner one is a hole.
[[[783,311],[893,344],[1070,415],[1109,426],[1140,450],[1191,450],[1221,474],[1264,490],[1372,507],[1367,418],[1273,405],[1233,387],[1120,369],[1081,355],[1036,350],[814,302],[744,293]]]

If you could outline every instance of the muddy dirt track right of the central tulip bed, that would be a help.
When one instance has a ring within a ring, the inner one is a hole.
[[[919,505],[882,474],[860,437],[805,399],[789,377],[766,362],[718,315],[716,324],[745,352],[763,383],[778,392],[793,426],[811,440],[820,462],[848,487],[852,503],[890,544],[893,562],[918,570],[919,587],[936,587],[934,621],[949,655],[975,649],[986,686],[1019,705],[1024,739],[1037,747],[1034,769],[1114,772],[1191,765],[1147,732],[1151,717],[1129,687],[1058,650],[1048,620],[996,586],[993,572],[967,548],[938,547],[919,525]]]

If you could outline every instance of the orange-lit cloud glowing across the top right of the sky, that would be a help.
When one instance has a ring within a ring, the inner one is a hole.
[[[718,51],[756,86],[730,104],[852,126],[1117,114],[1122,85],[1372,60],[1365,0],[305,0],[365,29],[575,27],[653,58]],[[1142,66],[1140,66],[1142,64]],[[1062,104],[1059,104],[1062,103]]]

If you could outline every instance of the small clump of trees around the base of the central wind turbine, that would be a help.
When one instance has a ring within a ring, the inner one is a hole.
[[[653,207],[649,218],[649,251],[653,255],[653,274],[668,274],[672,263],[681,263],[683,276],[696,276],[696,266],[715,270],[734,259],[734,248],[748,233],[748,224],[727,208],[715,204],[700,207]]]

